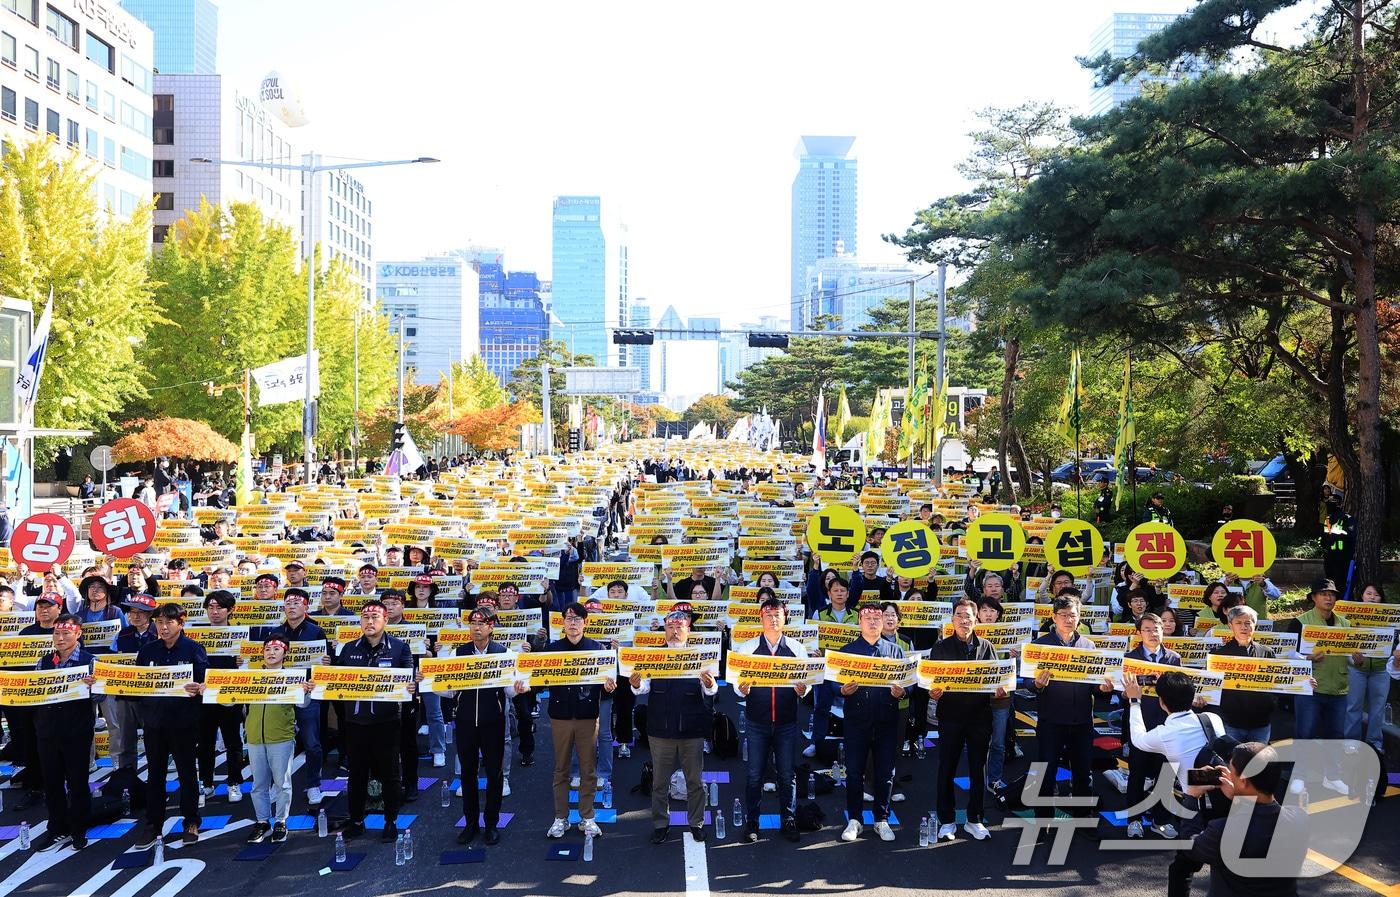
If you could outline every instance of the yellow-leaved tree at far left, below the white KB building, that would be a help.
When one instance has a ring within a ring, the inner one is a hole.
[[[150,203],[120,221],[98,209],[92,182],[46,137],[0,158],[0,292],[28,299],[35,322],[53,292],[39,427],[115,430],[144,395],[137,347],[165,326],[147,270]],[[62,442],[41,441],[38,463]]]

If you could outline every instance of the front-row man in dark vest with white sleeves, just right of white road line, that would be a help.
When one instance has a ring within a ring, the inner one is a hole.
[[[731,648],[734,654],[753,656],[774,656],[806,659],[806,648],[799,641],[787,638],[783,626],[787,623],[787,607],[783,599],[767,586],[759,589],[759,621],[763,634],[752,641]],[[731,677],[732,658],[731,658]],[[743,715],[748,719],[745,737],[749,742],[749,764],[745,781],[748,802],[748,826],[739,835],[745,841],[759,840],[759,800],[763,796],[763,770],[771,751],[778,771],[778,803],[783,810],[783,837],[798,841],[797,828],[797,779],[792,761],[797,754],[797,702],[806,694],[806,684],[784,687],[755,687],[736,677],[734,690],[745,698]]]

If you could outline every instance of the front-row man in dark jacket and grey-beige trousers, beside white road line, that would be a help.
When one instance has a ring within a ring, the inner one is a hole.
[[[678,605],[666,614],[666,648],[685,648],[690,640],[694,613]],[[651,842],[664,844],[671,830],[671,774],[679,765],[686,779],[686,810],[690,834],[704,841],[704,740],[714,726],[714,694],[720,690],[714,673],[700,670],[696,677],[643,679],[631,674],[631,688],[647,701],[647,740],[651,746]]]

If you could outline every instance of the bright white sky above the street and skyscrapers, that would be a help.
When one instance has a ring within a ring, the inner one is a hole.
[[[802,134],[855,136],[857,250],[960,189],[986,106],[1088,104],[1075,56],[1114,11],[1190,0],[706,4],[585,0],[220,0],[220,70],[255,94],[277,70],[328,160],[365,171],[375,260],[466,245],[550,267],[556,195],[602,196],[629,229],[631,295],[654,319],[788,313]]]

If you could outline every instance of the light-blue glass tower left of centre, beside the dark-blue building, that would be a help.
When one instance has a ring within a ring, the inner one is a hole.
[[[616,301],[608,295],[608,245],[598,196],[556,196],[553,225],[552,339],[575,355],[606,365],[617,326]]]

